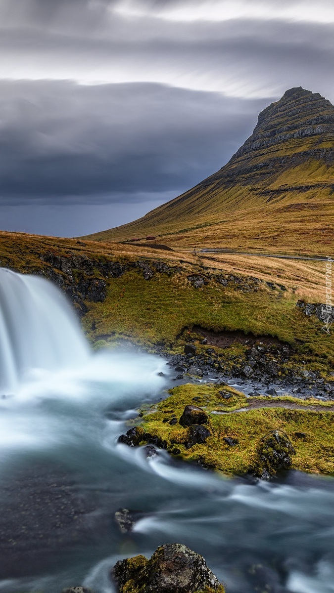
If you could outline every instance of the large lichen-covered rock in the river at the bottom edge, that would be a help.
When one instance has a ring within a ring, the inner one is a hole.
[[[182,544],[160,546],[150,560],[144,556],[119,560],[112,576],[118,593],[195,593],[207,588],[224,591],[204,558]]]

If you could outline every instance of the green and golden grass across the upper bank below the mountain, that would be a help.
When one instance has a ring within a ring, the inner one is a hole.
[[[167,256],[166,252],[150,247],[0,233],[3,266],[40,273],[48,265],[41,256],[50,252],[62,257],[81,254],[130,266],[139,259],[148,263],[162,260],[174,268],[170,275],[155,273],[152,279],[145,280],[140,270],[130,267],[121,278],[107,280],[103,302],[86,301],[88,312],[82,323],[87,337],[97,347],[127,339],[149,350],[160,343],[181,352],[188,339],[188,334],[182,332],[198,325],[215,331],[241,330],[248,335],[276,337],[294,349],[292,365],[303,360],[310,369],[327,374],[332,371],[332,337],[321,331],[322,323],[315,316],[307,318],[295,306],[297,298],[307,295],[313,302],[320,301],[322,263],[273,262],[232,254],[215,257],[212,262],[179,251],[168,252]],[[233,283],[222,286],[216,280],[219,273],[237,273],[250,291],[242,292]],[[191,274],[206,278],[207,285],[195,289],[187,279]],[[261,282],[254,284],[250,279],[254,274]],[[297,288],[291,286],[298,279]],[[285,285],[287,290],[270,289],[266,285],[269,280]],[[244,350],[234,345],[218,353],[232,360],[242,356]]]

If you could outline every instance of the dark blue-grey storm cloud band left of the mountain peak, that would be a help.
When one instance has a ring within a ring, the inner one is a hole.
[[[187,189],[231,157],[261,107],[153,84],[2,82],[1,203]]]

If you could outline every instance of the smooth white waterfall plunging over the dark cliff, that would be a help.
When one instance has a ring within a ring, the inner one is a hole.
[[[64,295],[48,280],[0,268],[0,394],[35,369],[83,364],[89,348]]]

